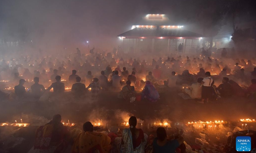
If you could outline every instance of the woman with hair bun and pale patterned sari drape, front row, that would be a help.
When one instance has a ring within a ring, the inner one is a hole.
[[[123,130],[121,140],[121,153],[144,153],[148,135],[144,135],[142,129],[136,128],[136,125],[137,118],[135,116],[130,117],[130,128],[125,128]]]

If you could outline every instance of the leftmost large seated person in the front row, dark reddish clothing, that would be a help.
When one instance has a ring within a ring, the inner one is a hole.
[[[65,152],[69,142],[68,128],[61,123],[60,114],[36,130],[34,149],[38,152]]]

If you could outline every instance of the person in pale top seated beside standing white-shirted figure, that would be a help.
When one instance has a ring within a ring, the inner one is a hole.
[[[203,81],[202,77],[197,79],[197,83],[191,85],[190,89],[184,89],[184,91],[193,99],[201,99],[202,97],[202,88],[201,83]]]

